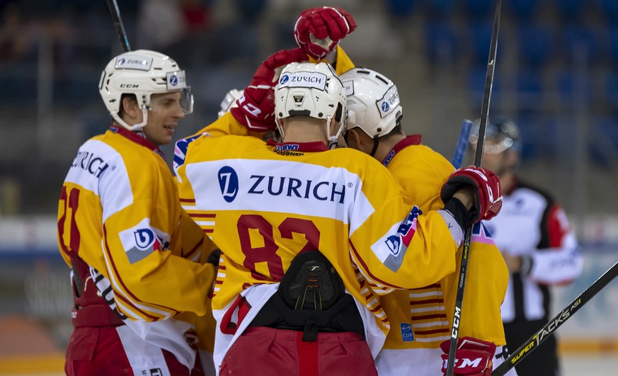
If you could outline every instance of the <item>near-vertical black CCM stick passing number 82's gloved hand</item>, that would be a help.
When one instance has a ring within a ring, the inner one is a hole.
[[[481,125],[479,125],[479,141],[476,143],[476,156],[474,166],[481,166],[483,158],[483,147],[485,147],[485,130],[487,128],[489,115],[489,101],[491,99],[491,88],[493,86],[493,70],[496,68],[496,52],[498,51],[498,31],[500,30],[500,8],[502,0],[496,3],[496,15],[493,17],[493,30],[491,31],[491,43],[489,45],[489,59],[487,62],[487,76],[485,79],[485,92],[483,93],[483,103],[481,104]],[[470,253],[470,241],[472,238],[472,227],[470,224],[466,228],[464,235],[464,249],[462,251],[462,266],[459,268],[459,283],[457,285],[457,300],[453,312],[453,324],[451,327],[451,343],[449,357],[447,360],[447,376],[453,375],[455,363],[455,351],[457,351],[457,338],[459,338],[459,322],[462,319],[462,306],[464,304],[464,287],[466,285],[466,273],[468,271],[468,260]]]

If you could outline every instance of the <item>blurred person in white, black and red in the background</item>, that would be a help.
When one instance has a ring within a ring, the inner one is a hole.
[[[473,150],[479,137],[478,123],[470,136]],[[505,195],[500,215],[487,227],[510,272],[502,319],[512,351],[549,320],[549,287],[571,283],[583,267],[564,210],[549,193],[517,175],[522,146],[520,130],[512,119],[498,116],[488,123],[482,164],[498,173]],[[556,336],[549,336],[515,368],[520,376],[559,375]]]

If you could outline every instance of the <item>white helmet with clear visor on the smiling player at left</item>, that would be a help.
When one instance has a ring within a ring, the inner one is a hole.
[[[139,130],[146,125],[152,94],[180,91],[183,112],[193,112],[193,94],[187,86],[185,71],[161,52],[135,50],[114,57],[101,73],[98,90],[110,115],[127,130]],[[142,123],[128,125],[120,118],[122,94],[135,95],[144,114]]]

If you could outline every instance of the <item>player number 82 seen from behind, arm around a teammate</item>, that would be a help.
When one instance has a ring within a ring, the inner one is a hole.
[[[389,327],[374,294],[453,273],[462,228],[498,212],[499,182],[458,171],[445,207],[420,212],[379,162],[328,150],[346,111],[325,63],[283,69],[275,114],[282,143],[200,137],[178,169],[183,207],[222,249],[215,365],[221,375],[376,375]]]

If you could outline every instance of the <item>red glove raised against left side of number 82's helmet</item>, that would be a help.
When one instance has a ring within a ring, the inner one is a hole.
[[[300,48],[280,50],[262,62],[253,79],[236,100],[237,107],[231,115],[249,130],[266,132],[275,130],[275,86],[283,68],[291,62],[307,61]]]

